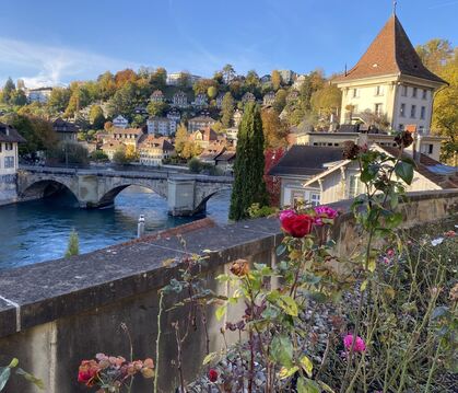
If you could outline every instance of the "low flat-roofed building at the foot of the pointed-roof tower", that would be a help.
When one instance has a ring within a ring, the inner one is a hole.
[[[355,143],[377,143],[379,146],[394,147],[395,136],[377,129],[368,129],[363,125],[342,125],[336,132],[302,131],[295,134],[295,145],[320,146],[320,147],[341,147],[343,142],[351,140]],[[438,161],[443,137],[435,135],[415,136],[415,149],[425,155]],[[410,147],[409,149],[412,149]]]

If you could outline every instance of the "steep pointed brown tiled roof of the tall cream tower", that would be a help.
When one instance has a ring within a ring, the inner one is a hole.
[[[336,82],[397,73],[447,84],[423,66],[398,16],[392,14],[356,66]]]

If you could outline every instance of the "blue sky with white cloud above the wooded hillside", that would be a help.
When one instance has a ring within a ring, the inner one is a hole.
[[[95,79],[140,66],[211,77],[273,69],[327,74],[352,67],[392,0],[1,0],[0,84]],[[398,0],[413,45],[458,45],[458,0]]]

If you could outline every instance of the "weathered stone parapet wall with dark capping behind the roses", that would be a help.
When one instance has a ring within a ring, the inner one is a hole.
[[[349,203],[336,206],[345,209]],[[413,194],[401,209],[406,227],[439,220],[458,211],[458,190]],[[186,252],[178,233],[186,240]],[[345,255],[364,241],[349,213],[339,218],[333,238],[338,241],[337,251]],[[209,258],[203,273],[208,285],[226,293],[228,289],[214,278],[239,257],[271,264],[281,239],[277,219],[225,227],[204,219],[90,254],[1,271],[0,365],[17,357],[24,369],[44,379],[47,393],[87,392],[77,383],[78,366],[98,351],[128,357],[122,322],[132,336],[134,357],[155,356],[157,290],[177,276],[176,262],[186,253],[207,250]],[[175,263],[164,266],[166,259]],[[175,300],[167,297],[164,309]],[[163,315],[160,391],[168,393],[177,385],[177,372],[172,366],[176,345],[171,323],[185,320],[187,314],[177,309]],[[219,349],[224,321],[216,323],[213,310],[208,315],[211,350]],[[230,315],[228,320],[234,317]],[[204,347],[202,330],[191,332],[184,346],[188,381],[201,369]],[[151,384],[141,379],[136,383],[134,392],[152,392]],[[14,379],[5,392],[38,391]]]

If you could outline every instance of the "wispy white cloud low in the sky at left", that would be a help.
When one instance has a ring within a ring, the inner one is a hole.
[[[56,85],[78,78],[94,78],[105,70],[126,67],[138,68],[139,65],[72,48],[0,37],[0,69],[15,70],[14,77],[23,79],[27,88]],[[0,79],[7,77],[0,76]]]

